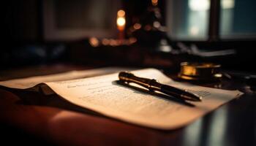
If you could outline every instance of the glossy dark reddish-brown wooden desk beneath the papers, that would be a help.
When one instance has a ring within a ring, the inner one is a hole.
[[[42,66],[32,69],[32,73],[31,69],[20,69],[16,74],[1,74],[7,78],[19,74],[25,77],[72,69],[83,67]],[[239,82],[224,80],[222,88],[237,88],[245,94],[188,126],[171,131],[106,118],[62,101],[56,95],[0,88],[1,138],[8,143],[34,145],[255,145],[255,93]]]

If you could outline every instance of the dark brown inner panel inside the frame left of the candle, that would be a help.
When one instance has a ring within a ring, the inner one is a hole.
[[[58,28],[110,28],[111,16],[105,15],[108,9],[113,9],[106,0],[73,0],[54,1],[56,27]]]

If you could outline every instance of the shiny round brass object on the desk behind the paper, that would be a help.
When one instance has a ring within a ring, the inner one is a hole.
[[[219,80],[222,77],[220,67],[220,64],[182,62],[178,77],[183,80]]]

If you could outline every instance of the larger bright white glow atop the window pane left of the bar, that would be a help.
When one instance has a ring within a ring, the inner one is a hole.
[[[189,0],[189,8],[193,11],[205,11],[210,9],[209,0]]]

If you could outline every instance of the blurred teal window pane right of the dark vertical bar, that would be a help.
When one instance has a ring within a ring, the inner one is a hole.
[[[221,38],[256,37],[256,1],[221,0]]]

